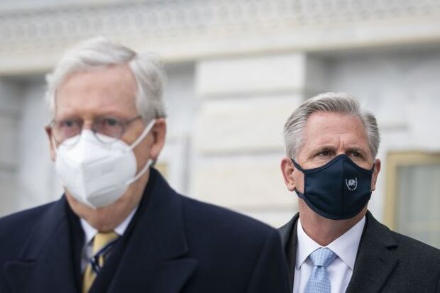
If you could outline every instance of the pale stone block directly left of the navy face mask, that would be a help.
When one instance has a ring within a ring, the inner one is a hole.
[[[231,209],[265,211],[295,206],[285,187],[280,156],[205,160],[192,171],[190,192],[197,199]]]

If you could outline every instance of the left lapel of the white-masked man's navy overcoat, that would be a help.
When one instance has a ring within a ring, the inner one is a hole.
[[[64,197],[48,207],[21,257],[6,262],[6,280],[14,292],[77,292],[66,211]]]

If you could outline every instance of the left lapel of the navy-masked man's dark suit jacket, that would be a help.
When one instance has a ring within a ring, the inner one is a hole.
[[[278,229],[281,234],[282,245],[285,248],[287,257],[287,265],[289,266],[289,275],[291,278],[290,284],[293,284],[295,279],[295,264],[297,262],[297,224],[299,213],[295,214],[293,218],[284,226]]]

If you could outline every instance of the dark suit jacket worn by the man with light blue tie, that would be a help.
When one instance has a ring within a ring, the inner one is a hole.
[[[295,275],[296,214],[279,230],[290,276]],[[348,293],[440,292],[440,250],[390,231],[368,211]]]

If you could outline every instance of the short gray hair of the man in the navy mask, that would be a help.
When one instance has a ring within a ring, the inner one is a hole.
[[[304,127],[307,118],[315,112],[353,115],[361,119],[368,137],[368,146],[373,158],[380,144],[378,122],[373,114],[361,108],[359,102],[349,94],[327,92],[314,96],[299,106],[284,125],[284,140],[287,157],[295,158],[304,144]]]

